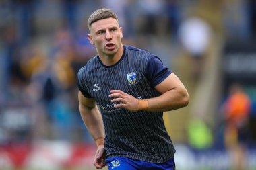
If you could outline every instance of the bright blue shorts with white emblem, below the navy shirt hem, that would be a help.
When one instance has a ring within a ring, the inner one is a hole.
[[[175,170],[174,159],[165,163],[148,163],[127,157],[113,157],[106,159],[106,165],[108,170]]]

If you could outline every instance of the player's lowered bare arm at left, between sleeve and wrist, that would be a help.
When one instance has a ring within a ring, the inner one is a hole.
[[[104,138],[104,127],[102,122],[102,116],[96,107],[96,101],[91,98],[86,98],[79,91],[79,110],[86,127],[88,128],[92,138]]]

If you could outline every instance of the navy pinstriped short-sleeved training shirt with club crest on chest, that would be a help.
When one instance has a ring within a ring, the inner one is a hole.
[[[103,65],[95,56],[79,70],[78,87],[85,97],[93,97],[102,114],[106,158],[129,157],[151,163],[174,158],[175,149],[162,118],[163,112],[130,112],[114,108],[110,90],[121,90],[137,99],[160,95],[154,87],[171,71],[160,58],[133,46],[124,46],[121,59],[112,66]]]

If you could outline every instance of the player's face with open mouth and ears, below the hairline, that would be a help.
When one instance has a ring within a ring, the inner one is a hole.
[[[120,50],[122,32],[116,19],[102,19],[92,23],[88,39],[96,45],[100,56],[115,56]]]

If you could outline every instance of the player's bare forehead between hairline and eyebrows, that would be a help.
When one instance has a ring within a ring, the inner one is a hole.
[[[97,30],[104,30],[106,28],[119,27],[116,19],[110,17],[107,19],[100,19],[97,22],[92,23],[91,30],[96,32]]]

